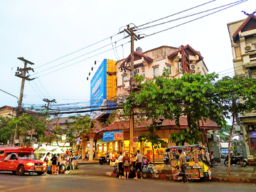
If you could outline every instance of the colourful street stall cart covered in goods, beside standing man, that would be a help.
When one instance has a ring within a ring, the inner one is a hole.
[[[211,179],[211,169],[203,162],[206,160],[206,147],[202,144],[188,145],[188,146],[174,146],[166,149],[171,156],[172,175],[175,180],[181,180],[178,176],[179,162],[178,149],[186,156],[186,176],[188,180],[199,180],[203,178]]]

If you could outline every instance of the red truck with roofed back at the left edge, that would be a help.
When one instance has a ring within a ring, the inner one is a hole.
[[[12,171],[23,176],[25,172],[34,172],[39,176],[46,170],[46,163],[34,159],[31,147],[0,146],[0,171]]]

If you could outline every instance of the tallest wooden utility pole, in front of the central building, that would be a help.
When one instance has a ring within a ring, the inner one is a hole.
[[[131,36],[131,68],[130,68],[130,94],[132,93],[132,82],[133,82],[133,75],[134,75],[134,40],[137,41],[140,39],[139,36],[137,36],[134,31],[132,31],[132,28],[129,28],[129,25],[127,26],[127,29],[124,28],[124,31]],[[134,112],[132,111],[129,118],[129,155],[134,153],[134,146],[133,146],[133,137],[134,137]]]

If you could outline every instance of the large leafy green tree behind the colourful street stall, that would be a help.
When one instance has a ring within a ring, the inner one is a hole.
[[[201,134],[197,122],[202,117],[206,120],[210,115],[215,114],[215,119],[218,119],[219,123],[223,121],[218,112],[208,105],[215,90],[211,83],[215,78],[218,78],[218,75],[184,74],[182,78],[171,79],[167,71],[154,79],[137,76],[135,79],[141,89],[127,97],[124,111],[129,114],[133,107],[137,107],[146,115],[146,120],[152,119],[153,122],[159,119],[175,120],[180,133],[170,134],[171,141],[177,144],[184,142],[195,144]],[[181,132],[180,117],[187,117],[186,131]]]

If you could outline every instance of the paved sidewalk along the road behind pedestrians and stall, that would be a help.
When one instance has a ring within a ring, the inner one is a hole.
[[[165,180],[173,180],[171,165],[164,164],[162,159],[155,159],[155,166],[157,167],[157,174],[143,174],[144,178],[161,178]],[[241,182],[241,183],[256,183],[256,166],[231,166],[230,176],[227,175],[228,166],[224,165],[224,160],[218,163],[218,166],[210,167],[212,169],[212,179],[209,181],[224,181],[224,182]],[[88,161],[88,160],[79,160],[78,164],[99,164],[98,160]],[[107,175],[115,176],[112,173],[113,167],[109,167],[105,172],[103,170],[95,169],[91,171],[90,174],[95,175]],[[75,170],[70,171],[69,174],[88,174],[85,170]]]

